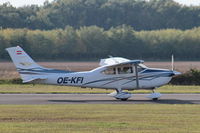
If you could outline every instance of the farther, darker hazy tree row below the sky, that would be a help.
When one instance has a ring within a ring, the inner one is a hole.
[[[173,0],[55,0],[44,6],[0,5],[0,27],[65,29],[96,25],[106,30],[120,25],[135,30],[191,29],[200,26],[200,7]]]

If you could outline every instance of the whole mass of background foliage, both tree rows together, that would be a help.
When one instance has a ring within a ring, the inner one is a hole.
[[[20,8],[6,3],[0,5],[0,59],[9,58],[5,48],[20,45],[36,59],[167,60],[174,54],[199,60],[199,14],[200,7],[172,0],[55,0]]]

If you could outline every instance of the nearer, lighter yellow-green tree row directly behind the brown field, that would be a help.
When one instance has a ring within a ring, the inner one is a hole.
[[[104,30],[89,26],[79,29],[0,30],[0,59],[9,59],[5,48],[19,45],[34,59],[96,60],[108,55],[130,59],[200,60],[200,28],[190,30],[136,31],[121,25]]]

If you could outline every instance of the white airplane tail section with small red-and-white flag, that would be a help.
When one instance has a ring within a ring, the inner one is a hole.
[[[45,69],[33,61],[33,59],[19,46],[6,49],[20,73],[23,83],[31,82],[37,79],[46,79],[46,77],[38,75],[35,70]]]

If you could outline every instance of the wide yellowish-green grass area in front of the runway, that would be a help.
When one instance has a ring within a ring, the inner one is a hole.
[[[200,105],[0,105],[0,133],[198,133]]]

